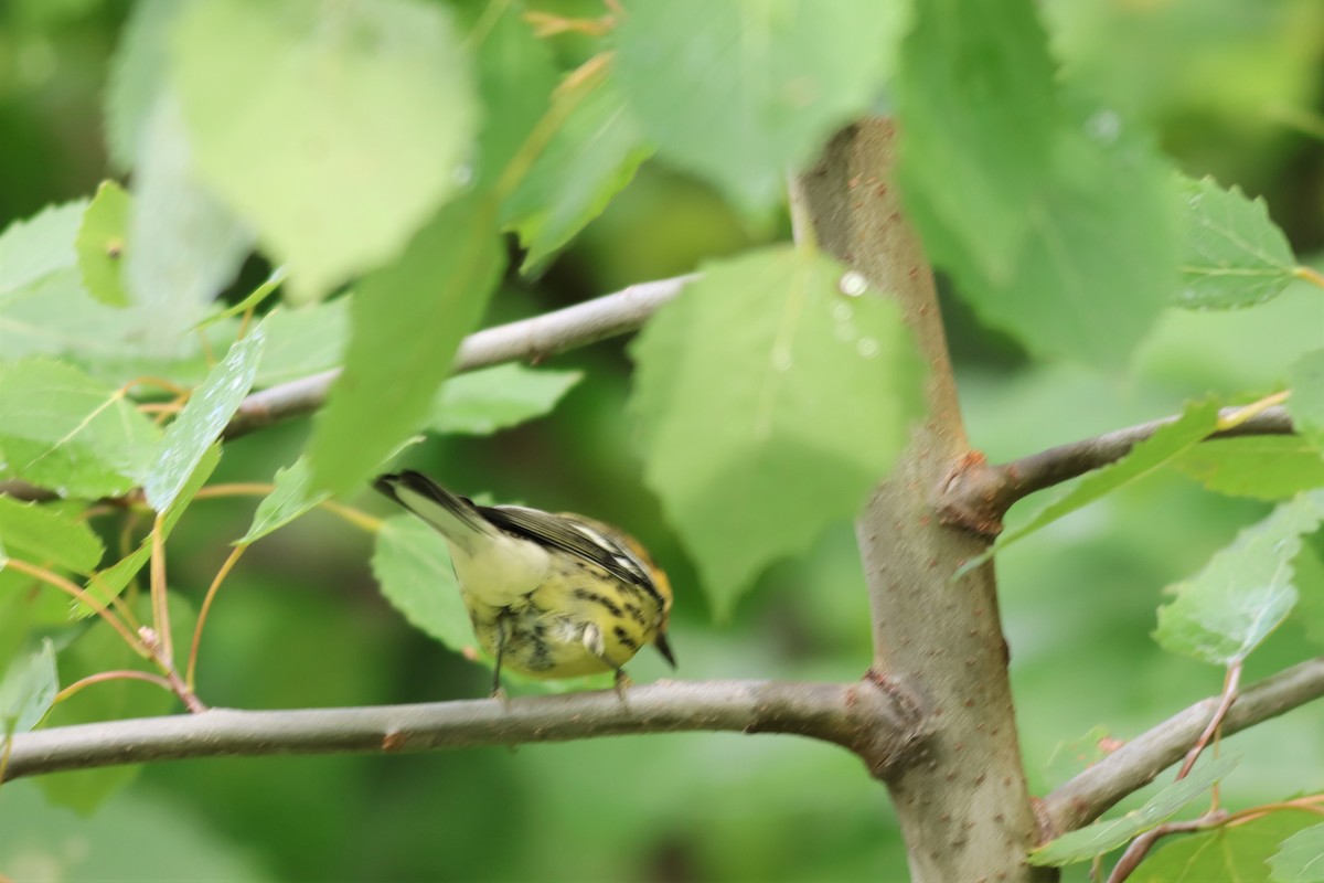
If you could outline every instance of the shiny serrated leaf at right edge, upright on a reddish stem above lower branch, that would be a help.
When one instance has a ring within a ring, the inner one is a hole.
[[[1245,659],[1296,604],[1292,559],[1321,519],[1324,491],[1311,491],[1243,530],[1200,573],[1166,589],[1177,600],[1158,608],[1155,639],[1210,665]]]

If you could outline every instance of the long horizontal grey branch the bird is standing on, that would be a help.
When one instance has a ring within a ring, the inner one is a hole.
[[[659,682],[522,699],[237,711],[57,727],[13,737],[4,778],[64,769],[221,756],[412,752],[647,732],[776,732],[899,761],[919,719],[870,680]],[[882,770],[875,769],[875,773]]]

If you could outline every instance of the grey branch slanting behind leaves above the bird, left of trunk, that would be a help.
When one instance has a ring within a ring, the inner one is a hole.
[[[695,278],[698,277],[691,274],[639,282],[564,310],[475,331],[461,342],[454,372],[462,373],[503,361],[534,361],[634,331]],[[339,375],[340,369],[332,368],[253,393],[230,418],[225,438],[237,438],[254,429],[316,410]]]

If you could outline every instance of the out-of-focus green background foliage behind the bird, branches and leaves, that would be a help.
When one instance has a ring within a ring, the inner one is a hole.
[[[531,5],[601,15],[588,0]],[[0,228],[87,197],[107,175],[101,95],[128,8],[119,0],[0,5]],[[1214,173],[1263,195],[1295,253],[1320,266],[1311,256],[1324,248],[1324,5],[1057,0],[1042,8],[1057,60],[1078,87],[1136,114],[1188,175]],[[587,54],[583,36],[551,45],[561,60]],[[784,238],[784,226],[747,221],[708,184],[647,162],[539,278],[498,289],[489,322],[688,271]],[[265,275],[250,261],[228,297],[244,297]],[[994,461],[1177,413],[1189,397],[1231,400],[1280,387],[1324,330],[1319,291],[1298,282],[1251,312],[1169,308],[1127,367],[1102,369],[1031,361],[970,310],[948,306],[970,437]],[[307,352],[290,359],[308,361]],[[776,565],[730,624],[714,625],[696,568],[643,490],[636,428],[624,416],[624,343],[551,364],[584,372],[551,416],[490,437],[430,440],[412,465],[466,492],[628,526],[677,586],[671,634],[685,678],[859,676],[870,630],[850,527]],[[212,481],[269,481],[295,461],[307,433],[308,422],[298,421],[230,443]],[[367,492],[350,502],[375,514],[388,508]],[[189,605],[248,530],[254,506],[203,500],[180,522],[171,582]],[[1014,510],[1012,526],[1037,506]],[[1164,586],[1197,573],[1268,511],[1263,500],[1225,496],[1169,470],[998,557],[1022,749],[1037,792],[1064,774],[1061,765],[1050,772],[1058,745],[1098,724],[1125,739],[1218,691],[1217,669],[1166,654],[1151,638],[1156,608],[1170,600]],[[120,541],[103,539],[113,548]],[[260,540],[212,612],[200,694],[245,708],[483,695],[482,669],[387,604],[369,555],[365,534],[323,512]],[[1317,596],[1324,585],[1319,569],[1311,573],[1316,581],[1301,588]],[[11,577],[0,575],[0,641],[12,639],[5,627],[13,621],[4,621]],[[1245,682],[1319,654],[1321,634],[1317,624],[1288,618],[1250,657]],[[647,682],[666,670],[641,657],[632,675]],[[93,686],[83,698],[107,691],[102,702],[118,696],[128,703],[122,708],[136,708],[135,691],[151,691],[122,686],[122,696]],[[65,714],[74,711],[70,702]],[[93,716],[110,714],[119,712]],[[1230,740],[1254,774],[1230,778],[1223,802],[1324,788],[1320,732],[1316,703]],[[883,789],[839,749],[780,737],[162,764],[93,815],[46,805],[32,782],[0,789],[0,871],[16,879],[75,880],[89,868],[126,880],[895,879],[902,867]],[[1071,868],[1067,879],[1084,878]]]

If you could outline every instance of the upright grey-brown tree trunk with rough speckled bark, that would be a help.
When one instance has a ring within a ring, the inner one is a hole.
[[[988,545],[940,523],[927,488],[970,455],[933,275],[892,180],[896,132],[869,120],[801,176],[817,241],[902,308],[928,368],[924,418],[855,524],[874,625],[874,671],[925,704],[922,763],[884,776],[915,883],[1055,875],[1025,863],[1038,830],[1021,763],[993,568],[957,582]],[[884,297],[884,295],[878,295]],[[863,368],[862,368],[863,369]]]

